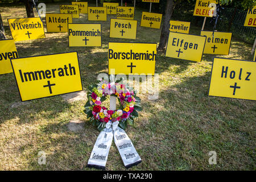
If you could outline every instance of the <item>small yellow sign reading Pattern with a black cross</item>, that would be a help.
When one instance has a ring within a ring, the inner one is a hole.
[[[106,7],[88,7],[89,21],[106,21]]]

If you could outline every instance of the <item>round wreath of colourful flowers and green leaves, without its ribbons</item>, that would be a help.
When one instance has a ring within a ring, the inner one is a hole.
[[[109,121],[119,121],[118,126],[125,130],[127,123],[133,125],[134,118],[139,116],[137,111],[142,110],[141,100],[136,96],[136,92],[130,91],[124,84],[119,84],[120,81],[98,81],[97,84],[89,86],[84,112],[99,131],[103,130]],[[109,110],[102,106],[106,96],[117,97],[121,108]]]

